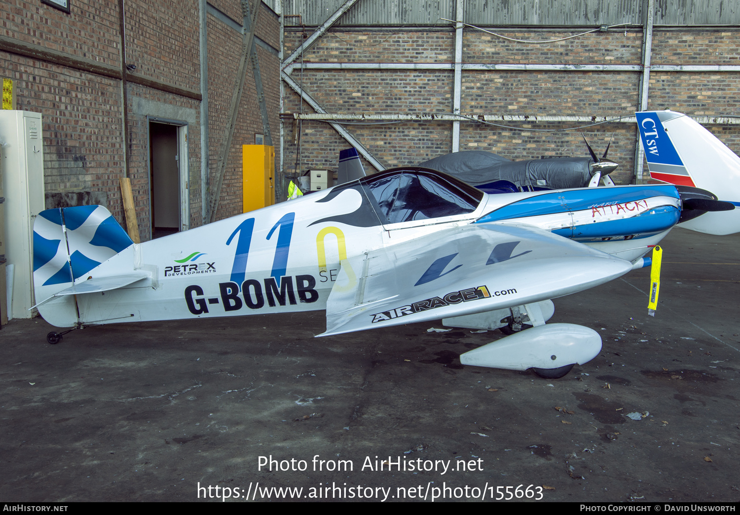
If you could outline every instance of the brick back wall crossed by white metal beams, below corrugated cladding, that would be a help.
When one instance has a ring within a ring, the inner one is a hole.
[[[310,30],[307,30],[310,34]],[[509,41],[466,28],[463,63],[477,64],[636,64],[642,56],[642,30],[595,32],[563,41],[580,31],[494,30]],[[286,30],[286,52],[300,44],[300,30]],[[740,30],[663,30],[653,34],[652,64],[737,64]],[[323,35],[303,56],[304,62],[451,63],[454,32],[336,28]],[[447,70],[328,70],[292,72],[312,97],[330,113],[451,112],[453,73]],[[630,116],[639,108],[639,72],[463,71],[462,114]],[[734,115],[740,93],[738,72],[652,72],[648,109],[673,109],[688,115]],[[300,104],[286,87],[286,112]],[[303,112],[313,110],[303,104]],[[628,183],[634,170],[636,128],[610,123],[577,129],[577,123],[503,123],[511,128],[462,123],[460,150],[487,150],[508,159],[588,156],[580,132],[600,156],[614,134],[609,157],[620,163],[613,178]],[[451,151],[451,123],[347,125],[385,166],[417,164]],[[300,170],[336,168],[346,143],[331,126],[304,121]],[[539,132],[534,129],[539,129]],[[563,129],[571,129],[565,131]],[[740,128],[712,127],[721,140],[740,152]],[[285,163],[294,173],[297,146],[292,123],[286,123]],[[366,169],[373,170],[364,163]]]

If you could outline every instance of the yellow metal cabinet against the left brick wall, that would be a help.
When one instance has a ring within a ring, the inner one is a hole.
[[[275,204],[275,147],[242,145],[243,213]]]

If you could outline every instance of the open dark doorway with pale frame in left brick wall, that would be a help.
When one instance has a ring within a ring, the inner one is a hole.
[[[152,239],[189,225],[187,126],[149,118],[149,209]]]

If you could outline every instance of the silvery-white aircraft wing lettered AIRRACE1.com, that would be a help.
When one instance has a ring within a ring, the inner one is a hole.
[[[625,259],[510,222],[449,228],[341,265],[322,336],[554,299],[632,267]]]

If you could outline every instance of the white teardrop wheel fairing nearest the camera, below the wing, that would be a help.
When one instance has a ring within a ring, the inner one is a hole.
[[[602,349],[598,332],[576,324],[531,327],[460,355],[463,365],[497,369],[556,369],[585,364]]]

